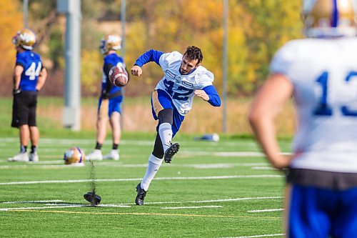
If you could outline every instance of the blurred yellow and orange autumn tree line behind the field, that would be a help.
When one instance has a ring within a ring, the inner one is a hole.
[[[228,93],[251,95],[268,74],[276,49],[301,38],[301,0],[228,0]],[[0,95],[10,95],[15,51],[11,39],[24,27],[21,0],[0,1]],[[81,1],[82,94],[98,95],[104,34],[121,34],[121,0]],[[56,13],[56,0],[29,0],[28,26],[38,36],[38,51],[49,69],[43,95],[64,90],[65,16]],[[203,66],[215,74],[221,91],[223,57],[223,0],[126,0],[125,61],[130,70],[149,49],[181,51],[188,45],[203,51]],[[120,52],[119,52],[120,54]],[[155,64],[144,66],[142,79],[132,78],[127,96],[150,94],[162,77]]]

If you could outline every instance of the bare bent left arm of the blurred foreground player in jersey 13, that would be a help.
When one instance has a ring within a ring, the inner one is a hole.
[[[276,169],[286,168],[291,162],[291,157],[281,154],[274,121],[292,93],[291,81],[283,74],[273,74],[258,91],[248,114],[261,149]]]

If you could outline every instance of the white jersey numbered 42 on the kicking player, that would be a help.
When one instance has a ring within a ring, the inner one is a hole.
[[[156,85],[155,89],[166,91],[178,110],[185,115],[192,109],[193,91],[212,85],[214,76],[203,66],[198,66],[191,74],[180,74],[182,54],[177,51],[162,54],[160,66],[164,71],[164,77]]]

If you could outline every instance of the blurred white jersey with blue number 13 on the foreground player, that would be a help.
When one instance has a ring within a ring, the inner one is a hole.
[[[290,41],[271,72],[293,83],[298,129],[291,167],[356,173],[357,39]]]

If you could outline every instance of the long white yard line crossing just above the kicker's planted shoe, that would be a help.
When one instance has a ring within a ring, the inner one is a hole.
[[[205,179],[246,179],[246,178],[281,178],[283,175],[276,174],[256,174],[256,175],[231,175],[231,176],[208,176],[208,177],[159,177],[156,180],[205,180]],[[96,182],[128,182],[141,181],[142,178],[133,179],[95,179]],[[64,183],[83,183],[91,182],[93,179],[76,180],[43,180],[43,181],[22,181],[22,182],[3,182],[0,185],[19,185],[19,184],[64,184]]]

